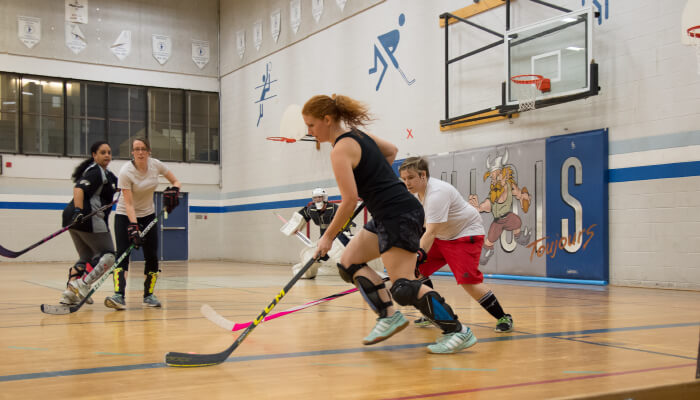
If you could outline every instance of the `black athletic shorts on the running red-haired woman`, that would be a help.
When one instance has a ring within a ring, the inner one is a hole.
[[[377,235],[379,253],[392,247],[416,252],[424,232],[424,219],[425,213],[420,207],[395,217],[371,219],[365,224],[365,229]]]

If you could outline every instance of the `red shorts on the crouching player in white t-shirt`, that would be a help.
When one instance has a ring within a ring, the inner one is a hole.
[[[484,281],[479,271],[479,257],[484,244],[483,236],[465,236],[455,240],[435,239],[428,252],[428,261],[418,268],[423,276],[430,276],[448,264],[461,284],[477,284]]]

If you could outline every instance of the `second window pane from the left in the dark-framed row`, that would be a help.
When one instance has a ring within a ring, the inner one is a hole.
[[[64,154],[63,82],[22,78],[22,150]]]

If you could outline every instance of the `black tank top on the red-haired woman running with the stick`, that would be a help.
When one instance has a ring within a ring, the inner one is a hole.
[[[355,140],[362,150],[360,162],[352,172],[357,192],[373,218],[394,217],[422,207],[418,199],[396,176],[371,137],[353,129],[340,135],[335,143],[345,138]]]

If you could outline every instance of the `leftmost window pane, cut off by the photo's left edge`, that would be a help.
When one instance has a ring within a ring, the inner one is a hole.
[[[0,74],[0,151],[19,152],[19,77]]]

